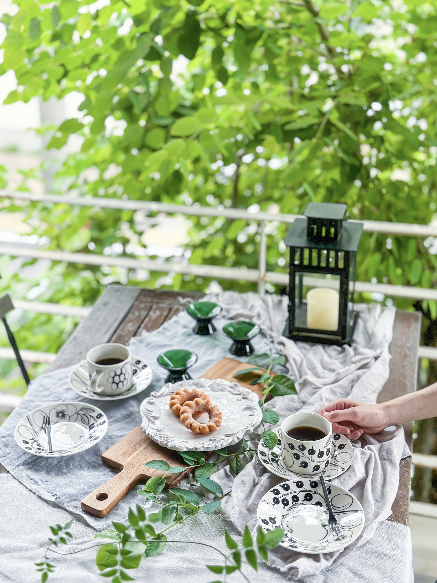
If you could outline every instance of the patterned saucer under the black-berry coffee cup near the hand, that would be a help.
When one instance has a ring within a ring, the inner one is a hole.
[[[278,442],[273,449],[269,449],[263,440],[259,442],[258,457],[261,463],[269,472],[274,473],[276,476],[284,477],[287,480],[302,477],[301,474],[291,472],[281,462],[281,428],[276,427],[272,431],[278,436]],[[322,476],[325,480],[331,480],[333,477],[340,476],[340,474],[350,468],[353,459],[354,448],[348,438],[338,433],[333,434],[331,461],[326,470],[322,472]]]

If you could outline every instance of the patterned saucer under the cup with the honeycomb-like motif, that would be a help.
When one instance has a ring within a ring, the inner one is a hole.
[[[145,363],[144,360],[136,359],[134,357],[132,359],[132,387],[124,393],[108,396],[98,395],[91,391],[86,360],[83,360],[73,368],[68,378],[68,382],[73,391],[76,391],[78,395],[86,397],[87,399],[93,399],[93,401],[118,401],[118,399],[127,399],[132,395],[138,395],[138,393],[144,391],[144,389],[149,387],[152,378],[153,373],[150,366]]]

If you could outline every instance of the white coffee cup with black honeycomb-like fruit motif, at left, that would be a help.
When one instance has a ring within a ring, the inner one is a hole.
[[[121,359],[117,364],[97,364],[98,360]],[[132,386],[131,351],[122,344],[100,344],[86,355],[90,389],[98,395],[119,395]]]

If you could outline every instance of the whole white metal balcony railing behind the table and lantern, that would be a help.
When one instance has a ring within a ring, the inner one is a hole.
[[[273,214],[267,212],[249,212],[244,209],[225,208],[223,205],[216,207],[193,205],[170,205],[155,201],[134,201],[129,199],[115,198],[93,198],[91,196],[71,196],[71,195],[36,195],[29,192],[12,192],[0,189],[0,198],[12,198],[17,201],[29,202],[51,202],[64,205],[95,206],[97,208],[119,209],[119,210],[144,210],[148,213],[166,213],[168,215],[186,216],[209,216],[224,217],[227,219],[245,219],[258,222],[259,257],[258,269],[244,267],[225,267],[219,265],[194,265],[183,261],[164,261],[163,259],[135,258],[135,257],[112,257],[111,255],[98,255],[92,252],[79,253],[61,250],[49,250],[41,245],[31,245],[26,243],[9,243],[0,241],[0,254],[11,257],[27,257],[34,259],[50,259],[51,261],[66,261],[70,263],[84,265],[107,265],[118,266],[128,269],[147,269],[149,271],[161,271],[164,273],[181,273],[194,275],[203,278],[245,280],[256,282],[258,292],[264,293],[266,282],[277,285],[287,285],[288,273],[267,271],[267,235],[266,226],[272,222],[292,223],[299,215]],[[410,224],[410,223],[390,223],[383,221],[362,220],[364,231],[370,233],[383,233],[387,235],[403,235],[412,237],[437,237],[437,227],[433,225]],[[386,283],[356,282],[355,291],[358,293],[379,293],[390,297],[411,298],[414,300],[437,300],[437,290],[425,289],[413,286],[395,286]],[[33,301],[15,300],[17,308],[46,314],[62,314],[76,316],[80,318],[89,314],[90,308],[74,307],[61,304],[50,304]],[[47,354],[45,362],[53,358],[49,353],[36,353],[33,351],[23,351],[24,360],[29,362],[42,362],[41,354]],[[12,357],[12,356],[11,356]],[[437,348],[420,346],[419,357],[437,360]],[[0,350],[0,358],[8,358],[8,349]]]

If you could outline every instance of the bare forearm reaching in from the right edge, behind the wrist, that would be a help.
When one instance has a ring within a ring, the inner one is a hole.
[[[381,403],[381,407],[386,415],[387,426],[437,417],[437,383],[421,391]]]

